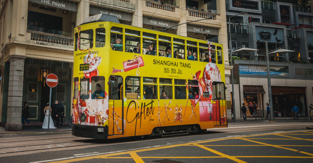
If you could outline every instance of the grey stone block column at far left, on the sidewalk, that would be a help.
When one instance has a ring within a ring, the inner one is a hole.
[[[26,48],[24,49],[26,50]],[[10,55],[10,75],[8,91],[8,111],[6,131],[22,130],[22,98],[23,98],[23,80],[24,80],[24,60],[23,55]]]

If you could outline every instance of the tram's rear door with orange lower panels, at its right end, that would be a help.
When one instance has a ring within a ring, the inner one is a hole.
[[[212,84],[213,100],[213,121],[214,126],[227,125],[226,121],[226,100],[225,85],[222,82],[213,82]]]

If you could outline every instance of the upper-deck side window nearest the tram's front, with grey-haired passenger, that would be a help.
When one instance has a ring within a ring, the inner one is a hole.
[[[123,28],[113,26],[110,31],[111,31],[110,37],[111,48],[116,51],[123,51],[123,40],[122,40]]]

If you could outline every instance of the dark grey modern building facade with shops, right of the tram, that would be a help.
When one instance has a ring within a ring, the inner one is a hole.
[[[257,50],[232,54],[234,90],[231,93],[234,94],[232,104],[236,119],[242,119],[242,103],[249,108],[248,117],[266,118],[268,87],[272,90],[275,118],[293,118],[291,109],[294,104],[300,109],[300,117],[308,117],[308,107],[313,103],[311,8],[260,0],[226,0],[226,6],[227,21],[230,17],[228,41],[231,41],[231,50],[241,47]],[[270,86],[266,42],[269,53],[279,48],[292,50],[269,54]]]

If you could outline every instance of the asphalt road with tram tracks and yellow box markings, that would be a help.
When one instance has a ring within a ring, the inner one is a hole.
[[[0,162],[312,162],[312,122],[230,123],[171,137],[94,140],[70,130],[0,130]]]

